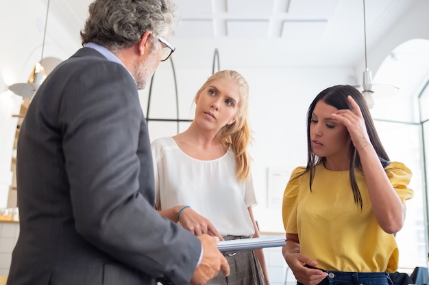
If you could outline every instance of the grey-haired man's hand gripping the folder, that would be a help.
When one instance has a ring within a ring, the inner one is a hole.
[[[191,284],[203,285],[222,271],[225,276],[230,275],[230,265],[225,256],[217,249],[219,238],[217,236],[209,236],[208,234],[201,234],[197,236],[201,241],[203,256],[195,269],[194,275],[191,279]]]

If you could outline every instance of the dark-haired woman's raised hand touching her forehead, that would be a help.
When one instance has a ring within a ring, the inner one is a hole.
[[[353,111],[349,109],[341,109],[332,113],[332,118],[341,122],[350,134],[353,145],[356,150],[363,150],[366,146],[371,146],[365,120],[363,119],[362,112],[356,101],[352,96],[347,96]]]

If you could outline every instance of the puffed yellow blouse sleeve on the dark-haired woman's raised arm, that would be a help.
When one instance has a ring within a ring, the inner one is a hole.
[[[414,196],[413,190],[408,188],[413,173],[403,163],[396,161],[391,162],[384,170],[402,204],[405,205],[405,201]]]

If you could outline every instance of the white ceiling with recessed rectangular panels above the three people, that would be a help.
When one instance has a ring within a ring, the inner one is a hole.
[[[39,1],[46,7],[47,0]],[[51,18],[75,35],[77,44],[91,1],[51,1]],[[426,0],[366,0],[368,54],[418,1]],[[179,64],[211,65],[215,49],[223,66],[356,66],[365,59],[363,0],[176,3],[181,21],[169,41],[177,48],[173,58]],[[53,31],[48,33],[56,38]]]

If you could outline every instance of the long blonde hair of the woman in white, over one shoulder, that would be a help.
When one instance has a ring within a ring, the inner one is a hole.
[[[249,85],[245,78],[234,70],[221,70],[209,77],[204,85],[199,88],[195,95],[194,102],[201,92],[218,79],[228,79],[238,84],[240,100],[238,101],[238,110],[236,120],[232,124],[223,126],[217,133],[217,138],[221,144],[232,146],[236,161],[236,178],[246,180],[250,175],[250,163],[252,158],[247,151],[252,141],[252,131],[249,126]]]

